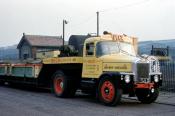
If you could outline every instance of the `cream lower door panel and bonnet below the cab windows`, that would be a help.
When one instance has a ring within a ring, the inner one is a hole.
[[[134,57],[122,53],[105,55],[99,58],[84,57],[83,78],[99,78],[102,72],[132,72]]]

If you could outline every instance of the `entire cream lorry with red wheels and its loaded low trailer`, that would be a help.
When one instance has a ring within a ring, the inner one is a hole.
[[[58,57],[0,64],[1,81],[50,87],[57,97],[73,97],[81,90],[109,106],[119,104],[123,94],[142,103],[157,99],[159,62],[137,55],[137,38],[73,35],[68,43]]]

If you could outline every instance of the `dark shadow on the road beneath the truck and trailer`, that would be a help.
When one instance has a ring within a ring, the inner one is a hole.
[[[0,85],[6,88],[10,89],[15,89],[15,90],[20,90],[20,91],[25,91],[25,92],[31,92],[31,93],[48,93],[52,95],[50,89],[46,88],[38,88],[35,86],[27,86],[27,85],[21,85],[21,84],[5,84],[5,85]],[[54,97],[54,96],[53,96]],[[58,98],[58,99],[63,99],[63,98]],[[80,91],[76,92],[76,95],[74,98],[66,98],[69,100],[76,100],[79,102],[86,102],[87,104],[95,104],[95,105],[101,105],[99,101],[97,100],[96,97],[89,95],[89,94],[84,94]],[[119,104],[121,106],[138,106],[141,105],[141,103],[137,100],[130,100],[130,99],[125,99],[122,98],[121,103]]]

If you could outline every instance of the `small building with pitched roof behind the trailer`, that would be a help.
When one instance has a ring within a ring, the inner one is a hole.
[[[36,58],[37,52],[59,50],[63,40],[61,36],[26,35],[23,36],[17,46],[19,58]]]

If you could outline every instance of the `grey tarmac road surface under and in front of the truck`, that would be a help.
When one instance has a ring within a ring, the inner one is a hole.
[[[175,106],[122,99],[108,107],[83,94],[63,99],[48,90],[0,86],[0,116],[175,116]]]

